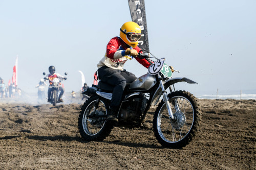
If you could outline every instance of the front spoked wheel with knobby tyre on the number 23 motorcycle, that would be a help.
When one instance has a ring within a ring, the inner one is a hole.
[[[164,101],[158,105],[153,119],[154,133],[163,147],[185,147],[199,130],[202,113],[195,96],[187,91],[168,94],[175,120],[170,119]]]

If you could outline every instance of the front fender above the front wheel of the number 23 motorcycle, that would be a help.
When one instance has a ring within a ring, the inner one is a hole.
[[[166,81],[163,82],[163,85],[164,85],[164,89],[166,90],[169,86],[175,84],[175,83],[179,83],[179,82],[187,82],[189,84],[197,84],[197,82],[194,82],[193,80],[190,80],[188,78],[172,78],[172,79],[168,79]],[[152,98],[152,102],[151,102],[151,105],[153,104],[154,106],[157,104],[157,102],[159,101],[160,97],[161,97],[161,94],[162,94],[162,89],[161,89],[161,86],[159,85],[159,87],[157,88],[155,94],[153,95],[153,98]]]

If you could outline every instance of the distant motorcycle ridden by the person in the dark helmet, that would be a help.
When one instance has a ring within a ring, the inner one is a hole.
[[[43,72],[43,75],[45,76],[46,73]],[[65,72],[65,76],[67,76],[68,73]],[[44,78],[45,80],[48,80],[47,78]],[[50,103],[53,105],[53,106],[56,106],[56,103],[58,103],[58,91],[59,91],[59,86],[60,86],[60,82],[62,80],[65,80],[65,79],[58,79],[58,78],[55,78],[52,80],[52,91],[51,91],[51,97],[50,97]]]

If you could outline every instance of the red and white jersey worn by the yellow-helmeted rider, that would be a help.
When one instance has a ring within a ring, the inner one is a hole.
[[[135,58],[140,64],[142,64],[146,68],[150,66],[150,63],[148,63],[148,61],[146,61],[145,59],[140,59],[138,57],[133,57],[130,55],[125,56],[124,53],[127,48],[132,49],[132,47],[123,42],[120,37],[112,38],[108,45],[106,45],[105,56],[98,63],[98,68],[102,66],[108,66],[113,69],[123,70],[124,63],[127,60],[132,60],[133,58]],[[138,46],[133,49],[137,50],[138,53],[141,50]]]

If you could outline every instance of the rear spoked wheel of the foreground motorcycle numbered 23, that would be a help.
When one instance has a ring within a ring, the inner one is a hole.
[[[108,103],[98,96],[86,101],[78,117],[78,129],[84,140],[103,140],[111,133],[113,125],[105,121]]]

